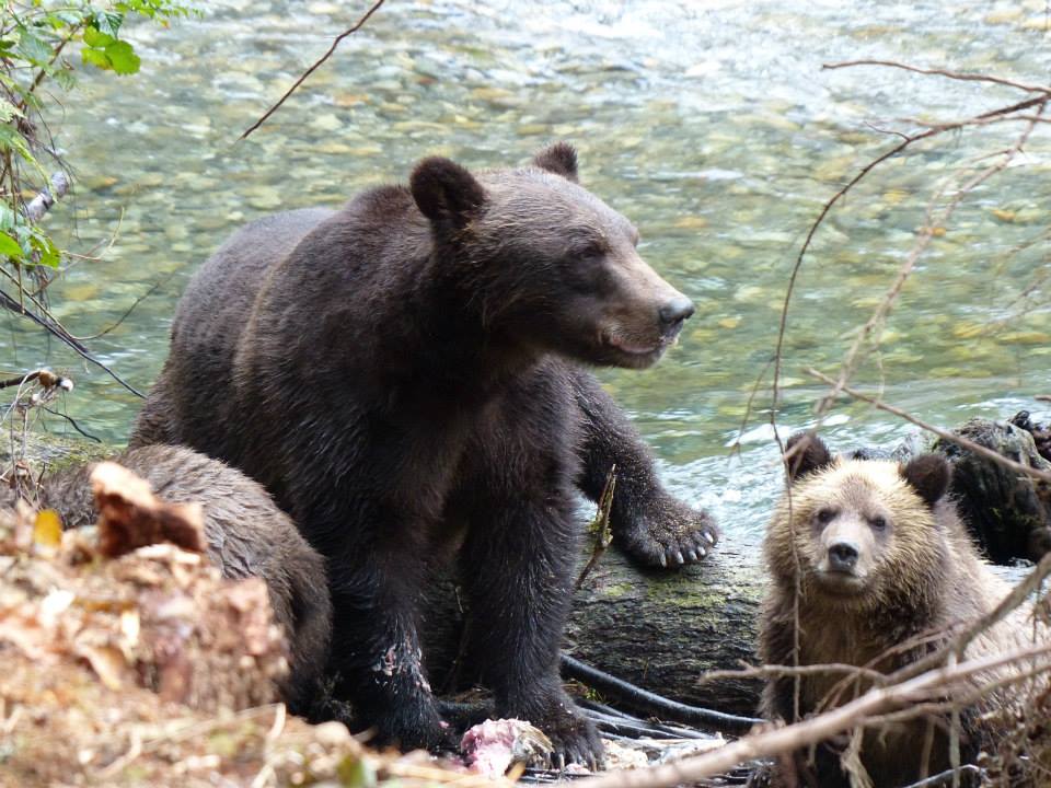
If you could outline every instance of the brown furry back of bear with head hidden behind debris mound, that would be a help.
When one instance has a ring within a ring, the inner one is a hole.
[[[289,674],[278,688],[294,714],[315,716],[332,633],[324,559],[266,490],[236,468],[172,445],[132,449],[113,461],[149,482],[162,500],[201,505],[208,557],[223,577],[266,582],[274,619],[285,629],[290,651]],[[80,465],[46,475],[36,505],[56,510],[63,528],[93,524],[92,468]]]

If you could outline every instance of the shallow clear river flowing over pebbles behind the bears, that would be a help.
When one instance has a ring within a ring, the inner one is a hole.
[[[94,352],[146,390],[168,348],[175,301],[197,265],[243,222],[335,206],[404,181],[439,153],[470,166],[527,161],[566,139],[581,181],[640,229],[644,256],[697,304],[682,341],[646,372],[601,376],[682,496],[727,530],[759,529],[779,484],[767,426],[770,374],[730,457],[757,379],[772,359],[793,263],[822,204],[899,141],[909,118],[951,120],[1025,97],[874,67],[897,59],[1047,82],[1044,0],[389,0],[259,131],[243,131],[350,26],[360,2],[221,0],[172,30],[141,25],[135,78],[85,73],[51,131],[77,196],[49,218],[82,260],[54,287],[77,334],[116,322]],[[835,208],[799,275],[785,337],[779,425],[812,424],[824,387],[890,286],[934,194],[1010,148],[1019,124],[917,144]],[[1016,166],[992,177],[937,231],[855,383],[945,426],[1051,394],[1048,280],[1051,142],[1038,127]],[[94,252],[93,252],[94,251]],[[76,392],[85,430],[127,436],[139,401],[54,341],[8,318],[0,359],[47,362]],[[200,381],[200,385],[222,385]],[[68,429],[49,417],[55,431]],[[841,402],[833,445],[892,443],[909,425]]]

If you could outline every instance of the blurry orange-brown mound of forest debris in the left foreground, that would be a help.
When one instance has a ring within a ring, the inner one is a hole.
[[[286,715],[261,580],[56,520],[0,511],[0,785],[508,785]]]

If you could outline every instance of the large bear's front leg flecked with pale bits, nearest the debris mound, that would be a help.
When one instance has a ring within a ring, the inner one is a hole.
[[[353,723],[371,728],[377,743],[454,751],[457,743],[423,668],[416,629],[418,575],[406,570],[406,555],[396,560],[396,571],[384,569],[391,560],[377,555],[362,560],[360,552],[353,559],[331,561],[342,567],[343,576],[332,587],[328,674],[337,679],[336,697],[351,703]],[[348,576],[351,565],[357,569]]]

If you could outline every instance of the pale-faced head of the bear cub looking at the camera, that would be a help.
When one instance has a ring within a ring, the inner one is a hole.
[[[908,463],[833,457],[812,433],[786,445],[788,489],[766,534],[784,588],[830,607],[875,611],[936,592],[948,558],[943,502],[951,467],[940,454]]]

